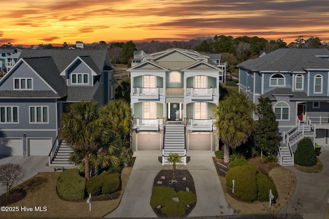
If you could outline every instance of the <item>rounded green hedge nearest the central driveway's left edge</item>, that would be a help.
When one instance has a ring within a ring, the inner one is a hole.
[[[108,195],[119,189],[120,174],[104,172],[98,176],[90,177],[87,181],[87,194]]]

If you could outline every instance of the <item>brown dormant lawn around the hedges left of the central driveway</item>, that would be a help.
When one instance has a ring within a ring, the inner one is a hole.
[[[121,195],[118,199],[92,202],[92,211],[89,204],[83,202],[67,202],[58,197],[56,192],[59,172],[38,173],[15,188],[23,188],[26,197],[9,206],[32,207],[32,212],[2,212],[0,218],[81,218],[103,217],[115,210],[121,200],[123,191],[131,174],[131,167],[126,167],[121,173]],[[34,207],[46,207],[47,211],[35,212]]]

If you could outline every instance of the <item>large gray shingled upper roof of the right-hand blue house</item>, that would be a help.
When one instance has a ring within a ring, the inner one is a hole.
[[[329,62],[318,57],[329,56],[327,49],[277,49],[266,56],[250,59],[239,67],[253,71],[291,71],[301,72],[305,69],[329,69]]]

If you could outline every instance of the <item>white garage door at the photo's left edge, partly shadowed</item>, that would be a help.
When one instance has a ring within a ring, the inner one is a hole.
[[[23,156],[23,138],[0,138],[0,156]]]

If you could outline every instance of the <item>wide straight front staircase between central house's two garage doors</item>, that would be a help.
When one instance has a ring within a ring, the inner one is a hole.
[[[163,138],[163,156],[168,157],[172,153],[186,156],[185,127],[183,124],[166,124]]]

